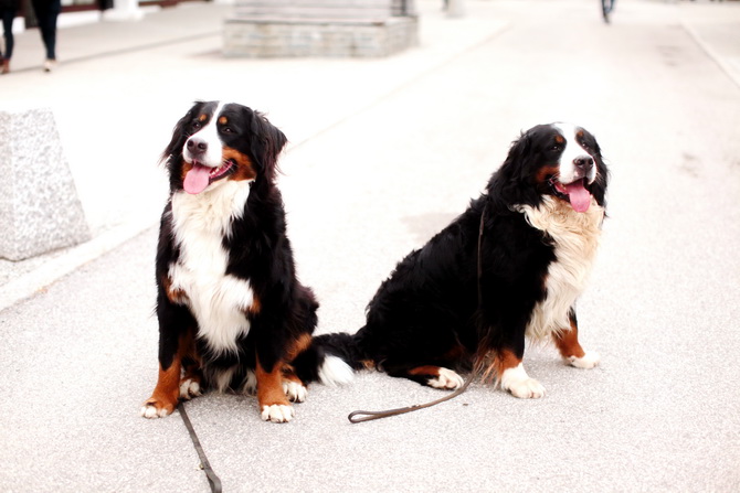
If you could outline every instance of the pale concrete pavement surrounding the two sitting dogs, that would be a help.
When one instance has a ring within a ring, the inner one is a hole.
[[[395,261],[464,210],[520,129],[584,125],[613,180],[579,303],[600,367],[531,347],[543,399],[476,384],[357,426],[351,410],[440,393],[362,374],[313,386],[286,426],[262,422],[253,398],[207,395],[188,409],[225,491],[737,491],[740,6],[624,0],[605,26],[594,3],[468,1],[450,20],[420,1],[421,46],[376,61],[223,60],[209,34],[223,8],[187,6],[129,24],[147,50],[91,53],[114,28],[74,28],[60,32],[57,72],[0,78],[2,104],[55,109],[96,235],[0,266],[0,490],[208,490],[179,417],[137,411],[157,368],[158,154],[190,100],[230,98],[292,140],[281,187],[321,332],[361,325]],[[172,24],[172,43],[147,44]],[[49,285],[44,269],[71,274]],[[19,301],[8,287],[23,279],[43,290]]]

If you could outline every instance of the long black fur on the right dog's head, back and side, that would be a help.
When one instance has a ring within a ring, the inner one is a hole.
[[[522,133],[486,192],[399,262],[381,283],[368,304],[366,325],[353,335],[320,335],[315,346],[355,369],[374,366],[422,384],[429,376],[410,374],[410,369],[436,365],[466,371],[500,349],[521,357],[525,330],[536,303],[545,298],[545,277],[554,250],[551,239],[512,206],[538,206],[545,195],[553,194],[550,176],[538,174],[557,165],[562,152],[553,148],[553,135],[551,126]],[[583,144],[591,149],[599,171],[599,179],[588,189],[604,206],[607,170],[601,150],[588,132]],[[484,211],[478,282],[478,231]]]

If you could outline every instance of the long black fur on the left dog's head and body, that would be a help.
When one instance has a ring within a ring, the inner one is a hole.
[[[170,197],[183,190],[182,148],[198,130],[197,118],[215,105],[214,101],[197,103],[175,127],[163,153],[170,178]],[[221,139],[225,146],[246,154],[256,171],[244,213],[241,218],[232,221],[222,240],[229,259],[226,274],[250,281],[260,310],[247,314],[251,329],[246,337],[236,341],[236,353],[214,355],[202,341],[195,339],[195,344],[203,368],[239,367],[231,382],[231,387],[239,389],[247,371],[255,368],[255,355],[263,367],[271,369],[286,357],[294,341],[313,333],[318,302],[311,290],[296,278],[283,200],[275,185],[277,157],[287,139],[258,111],[241,105],[229,105],[224,111],[229,115],[232,131],[222,135]],[[190,309],[173,303],[167,294],[168,271],[179,256],[180,248],[172,232],[172,205],[168,202],[161,217],[156,261],[159,362],[165,369],[171,365],[186,332],[198,332],[198,323]]]

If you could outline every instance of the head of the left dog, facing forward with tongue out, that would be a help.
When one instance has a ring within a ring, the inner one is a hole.
[[[197,194],[228,180],[273,182],[286,142],[258,111],[235,103],[198,101],[176,125],[162,160],[170,189]]]

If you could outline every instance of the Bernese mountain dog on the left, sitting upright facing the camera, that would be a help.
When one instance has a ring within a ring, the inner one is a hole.
[[[292,363],[310,346],[318,303],[296,278],[275,185],[285,143],[237,104],[197,103],[177,124],[162,157],[170,197],[156,261],[159,378],[142,416],[167,416],[213,388],[256,392],[262,418],[284,422],[290,401],[306,398]],[[339,358],[311,367],[325,383],[352,374]]]

